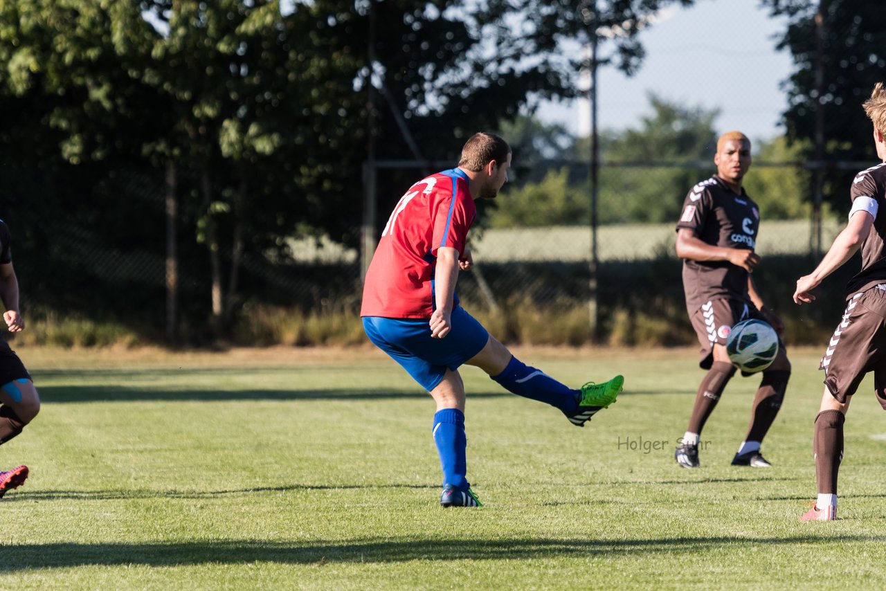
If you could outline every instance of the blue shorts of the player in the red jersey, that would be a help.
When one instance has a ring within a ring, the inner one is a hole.
[[[431,337],[427,319],[364,316],[363,330],[375,346],[391,355],[416,382],[431,392],[447,368],[458,369],[489,340],[483,325],[461,306],[455,307],[450,318],[452,329],[444,338]]]

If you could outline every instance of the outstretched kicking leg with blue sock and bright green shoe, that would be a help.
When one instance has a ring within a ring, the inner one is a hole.
[[[624,377],[616,376],[602,384],[588,382],[580,390],[572,389],[540,369],[520,362],[492,335],[486,346],[466,363],[483,369],[511,393],[559,408],[571,424],[579,427],[615,402],[625,382]]]

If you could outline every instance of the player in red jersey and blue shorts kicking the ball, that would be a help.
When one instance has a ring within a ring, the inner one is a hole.
[[[467,479],[465,392],[458,368],[477,366],[512,393],[559,408],[579,427],[621,391],[624,378],[573,390],[519,362],[455,296],[460,270],[473,264],[465,246],[474,201],[495,198],[508,180],[510,146],[478,133],[458,167],[412,185],[394,207],[363,286],[366,334],[431,393],[432,434],[443,469],[444,507],[477,507]]]

